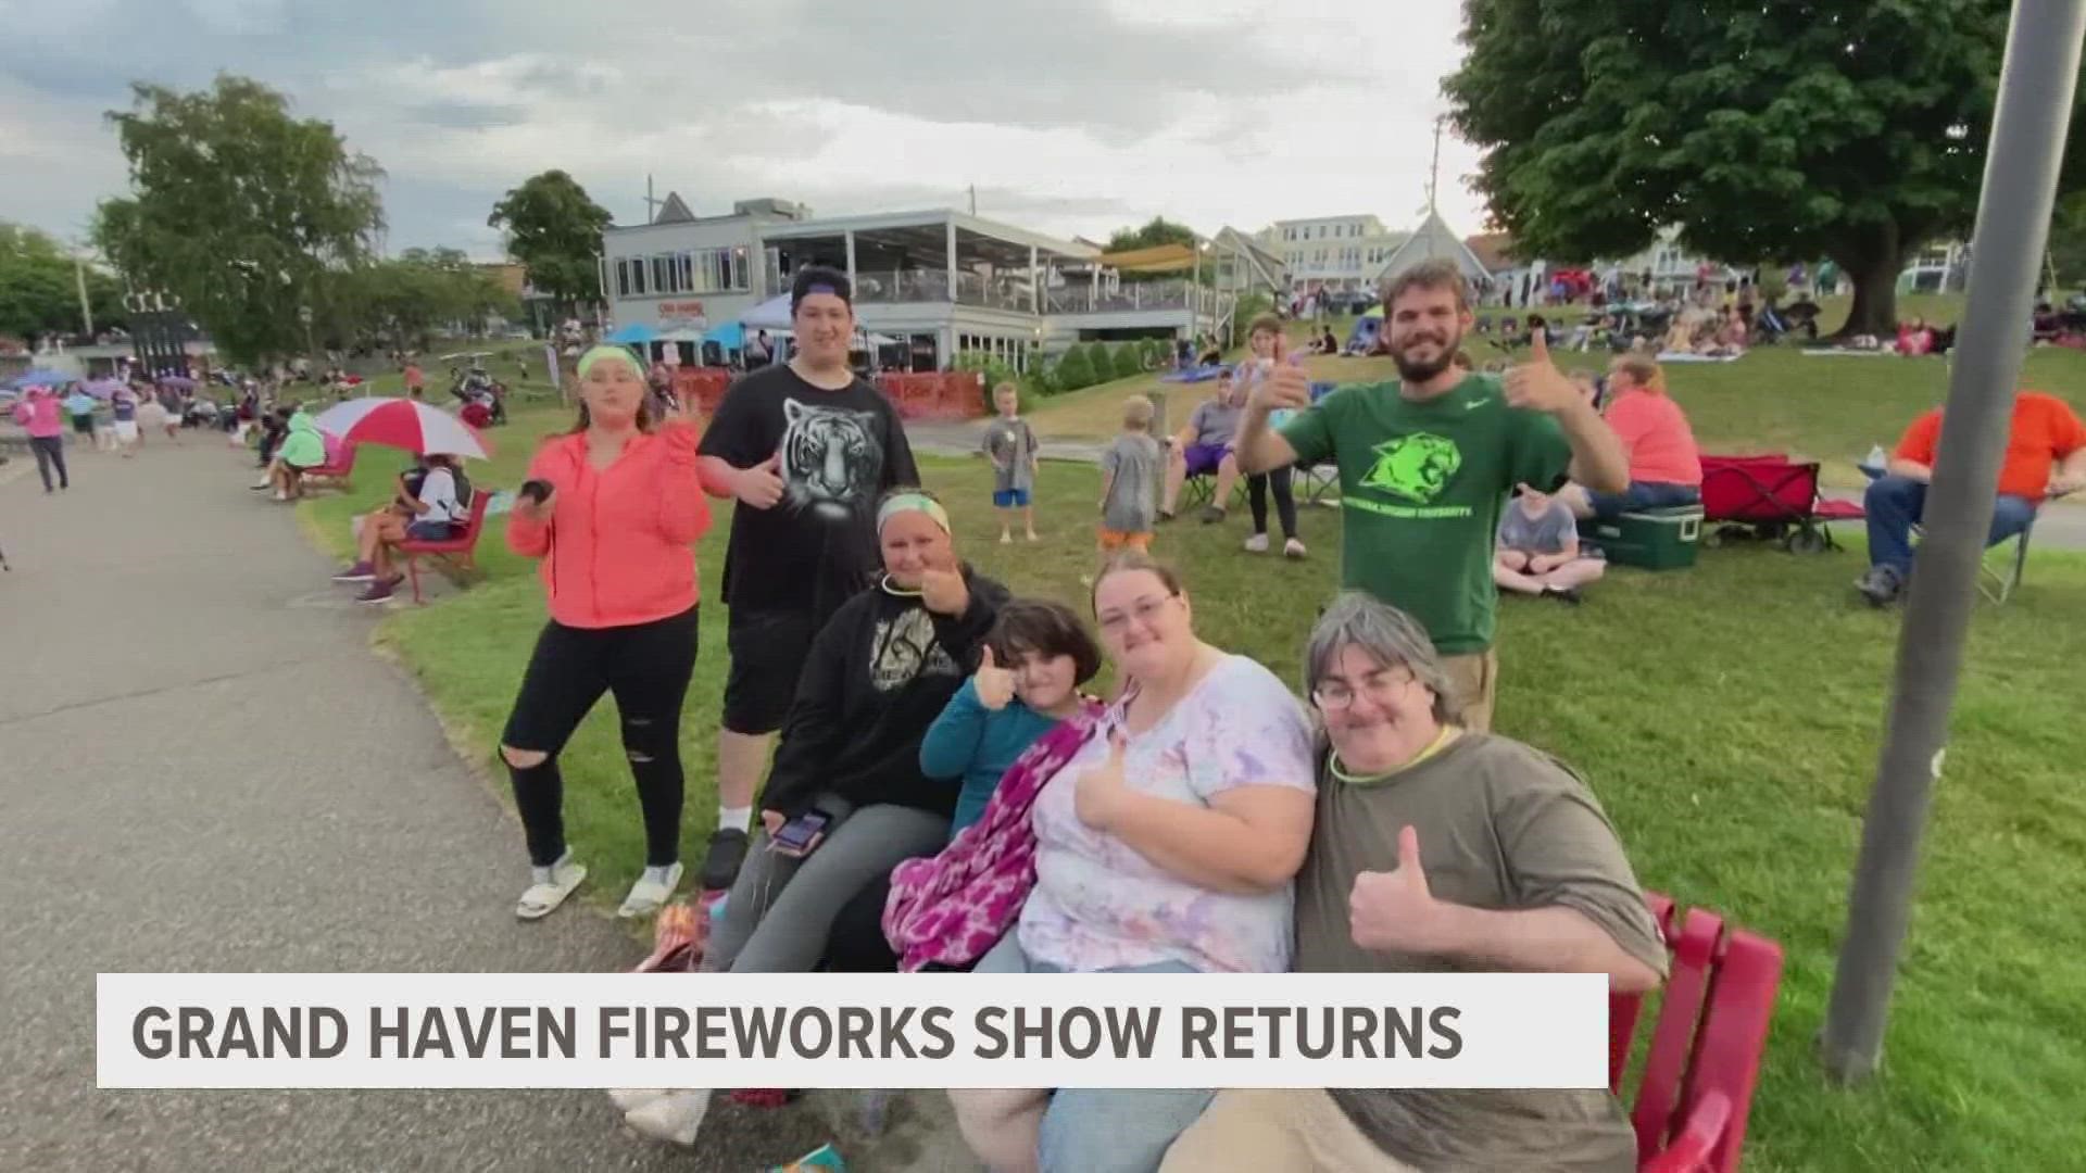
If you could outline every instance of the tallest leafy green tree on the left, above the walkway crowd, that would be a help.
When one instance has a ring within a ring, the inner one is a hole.
[[[328,271],[369,255],[384,171],[323,119],[221,73],[209,90],[134,83],[111,111],[131,194],[102,200],[94,240],[138,286],[173,292],[242,361],[305,344],[300,309]]]

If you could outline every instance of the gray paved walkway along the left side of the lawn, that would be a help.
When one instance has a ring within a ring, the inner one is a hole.
[[[200,438],[75,455],[54,497],[0,468],[0,1169],[747,1171],[811,1148],[809,1112],[726,1110],[672,1152],[595,1092],[94,1087],[100,971],[642,956],[590,910],[515,923],[519,831],[248,476]]]

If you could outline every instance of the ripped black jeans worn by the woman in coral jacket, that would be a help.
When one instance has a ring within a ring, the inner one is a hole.
[[[620,628],[574,628],[557,620],[536,637],[522,695],[507,716],[501,756],[515,787],[528,858],[551,866],[565,854],[565,781],[557,756],[601,693],[615,693],[624,756],[645,810],[645,862],[680,858],[680,703],[695,672],[695,607]],[[532,766],[515,758],[542,753]]]

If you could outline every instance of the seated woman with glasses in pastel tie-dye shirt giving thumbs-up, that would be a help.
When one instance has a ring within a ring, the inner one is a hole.
[[[1283,973],[1310,843],[1310,724],[1283,683],[1195,639],[1181,580],[1143,553],[1093,586],[1124,680],[1030,814],[1037,883],[976,973]],[[1149,1173],[1208,1090],[951,1092],[995,1173]]]

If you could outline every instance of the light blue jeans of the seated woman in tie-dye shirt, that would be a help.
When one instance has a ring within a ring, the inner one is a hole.
[[[1008,929],[972,973],[1064,973],[1022,952]],[[1103,973],[1199,973],[1185,962]],[[1156,1173],[1172,1142],[1216,1096],[1214,1087],[1060,1087],[1037,1142],[1043,1173]]]

